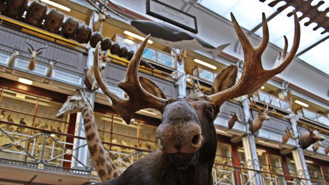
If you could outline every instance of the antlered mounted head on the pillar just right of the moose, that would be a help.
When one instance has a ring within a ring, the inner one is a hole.
[[[258,108],[258,114],[256,116],[255,119],[249,119],[249,129],[251,131],[251,133],[253,133],[256,137],[258,136],[258,132],[262,126],[263,126],[263,122],[265,120],[270,120],[270,117],[268,116],[268,113],[275,113],[276,110],[273,109],[273,110],[269,110],[269,104],[271,104],[271,101],[270,103],[267,103],[266,104],[266,108],[264,107],[261,107],[261,106],[258,106],[256,105],[256,102],[254,100],[250,100],[249,101],[251,102],[251,104],[254,106],[254,107],[257,107]]]

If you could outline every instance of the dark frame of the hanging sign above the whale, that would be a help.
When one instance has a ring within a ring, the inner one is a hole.
[[[195,29],[190,28],[190,27],[188,27],[188,26],[186,26],[186,25],[184,25],[184,24],[181,24],[181,23],[179,23],[179,22],[176,22],[176,21],[174,21],[174,20],[171,20],[171,19],[169,19],[169,18],[167,18],[167,17],[165,17],[165,16],[159,15],[159,14],[157,14],[157,13],[155,13],[155,12],[152,12],[151,9],[150,9],[150,2],[151,2],[151,0],[146,0],[146,14],[148,14],[148,15],[152,15],[152,16],[154,16],[154,17],[157,17],[157,18],[159,18],[159,19],[161,19],[161,20],[164,20],[164,21],[166,21],[166,22],[169,22],[170,24],[173,24],[173,25],[175,25],[175,26],[181,27],[181,28],[183,28],[183,29],[185,29],[185,30],[188,30],[188,31],[190,31],[190,32],[193,32],[193,33],[197,33],[197,32],[198,32],[198,31],[197,31],[197,23],[196,23],[196,17],[195,17],[195,16],[193,16],[193,15],[191,15],[191,14],[188,14],[188,13],[186,13],[186,12],[180,10],[180,9],[177,9],[177,8],[175,8],[175,7],[172,7],[172,6],[168,5],[168,4],[165,4],[164,2],[160,2],[160,1],[158,1],[158,0],[152,0],[152,1],[155,1],[155,2],[157,2],[157,3],[159,3],[159,4],[162,4],[162,5],[164,5],[164,6],[168,7],[168,8],[170,8],[170,9],[173,9],[173,10],[175,10],[175,11],[178,11],[179,13],[185,14],[185,15],[187,15],[187,16],[193,18],[193,19],[194,19]]]

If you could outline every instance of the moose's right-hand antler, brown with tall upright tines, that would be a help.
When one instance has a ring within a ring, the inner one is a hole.
[[[259,89],[264,83],[266,83],[274,75],[281,73],[293,60],[299,46],[301,30],[300,24],[296,12],[294,11],[295,18],[295,35],[293,46],[288,56],[286,57],[287,50],[283,50],[282,55],[278,57],[278,62],[275,64],[275,68],[271,70],[265,70],[262,66],[262,54],[269,42],[269,31],[265,14],[263,16],[263,39],[258,47],[253,47],[249,42],[247,36],[242,31],[240,25],[236,21],[233,13],[231,13],[234,29],[239,37],[241,46],[244,53],[244,69],[241,79],[233,87],[221,92],[206,96],[211,102],[216,105],[223,104],[226,100],[239,97]],[[288,43],[285,43],[285,48]]]

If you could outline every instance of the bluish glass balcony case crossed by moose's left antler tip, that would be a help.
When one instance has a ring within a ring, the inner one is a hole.
[[[134,40],[131,40],[128,37],[122,36],[120,34],[116,34],[115,41],[119,43],[120,46],[127,47],[128,51],[133,50],[136,52],[137,48],[140,46],[140,43],[135,42]],[[175,57],[172,54],[166,53],[164,51],[146,47],[143,52],[143,58],[165,67],[176,69]]]

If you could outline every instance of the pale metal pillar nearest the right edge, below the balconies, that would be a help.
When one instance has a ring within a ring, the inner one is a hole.
[[[289,115],[289,119],[290,119],[291,126],[292,126],[292,129],[294,132],[294,136],[296,138],[295,140],[296,140],[297,147],[296,147],[296,149],[292,150],[292,154],[293,154],[293,158],[295,161],[297,175],[300,178],[310,179],[309,171],[307,169],[306,162],[305,162],[303,149],[299,145],[299,133],[297,130],[297,120],[299,119],[299,116],[292,113]],[[303,180],[303,183],[306,185],[311,185],[310,181]]]

